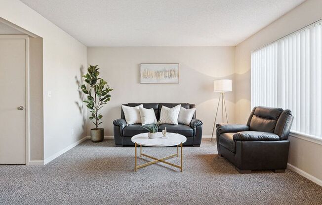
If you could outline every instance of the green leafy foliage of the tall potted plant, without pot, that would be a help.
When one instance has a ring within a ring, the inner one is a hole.
[[[82,76],[85,78],[85,82],[88,84],[88,87],[86,88],[85,84],[82,84],[80,87],[82,92],[87,95],[87,99],[83,102],[87,103],[86,106],[90,109],[91,116],[89,119],[94,120],[92,122],[96,126],[96,129],[98,128],[98,125],[103,123],[99,122],[99,120],[103,118],[103,115],[98,113],[98,111],[104,104],[111,100],[109,92],[113,90],[106,81],[98,77],[100,72],[97,67],[98,65],[89,65],[86,75]],[[92,92],[92,90],[94,92]]]

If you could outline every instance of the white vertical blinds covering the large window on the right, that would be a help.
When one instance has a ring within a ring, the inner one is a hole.
[[[283,37],[251,55],[251,105],[282,107],[292,132],[321,137],[321,23]]]

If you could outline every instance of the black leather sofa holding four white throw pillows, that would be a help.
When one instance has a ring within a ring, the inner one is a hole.
[[[178,104],[181,104],[182,107],[189,109],[196,107],[195,104],[189,103],[128,103],[123,104],[126,106],[135,107],[137,105],[143,104],[144,108],[150,109],[153,108],[156,114],[157,119],[160,119],[160,112],[162,105],[166,107],[174,107]],[[134,143],[131,141],[131,137],[140,134],[147,133],[148,131],[142,128],[141,124],[127,125],[124,117],[124,112],[121,109],[121,118],[114,120],[114,140],[115,145],[117,147],[121,147],[123,145],[131,145],[134,146]],[[159,132],[164,130],[166,127],[166,131],[169,133],[179,133],[185,137],[187,137],[187,141],[183,145],[193,145],[195,147],[199,147],[201,144],[201,135],[202,135],[202,122],[199,119],[196,119],[196,113],[193,116],[193,119],[188,125],[169,125],[169,124],[161,124],[159,126]]]

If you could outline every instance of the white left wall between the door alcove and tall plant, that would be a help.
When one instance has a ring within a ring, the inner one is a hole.
[[[46,159],[85,136],[86,111],[77,104],[81,100],[76,77],[86,67],[86,47],[19,0],[0,0],[0,5],[1,18],[43,38],[42,146]]]

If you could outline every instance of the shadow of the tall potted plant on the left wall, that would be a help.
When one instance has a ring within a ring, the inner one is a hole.
[[[77,75],[75,75],[76,85],[78,86],[78,93],[79,93],[79,100],[75,101],[75,103],[76,103],[77,107],[79,108],[80,115],[82,116],[82,122],[81,122],[82,132],[84,132],[84,130],[85,130],[86,111],[87,111],[87,109],[84,108],[84,103],[83,103],[83,101],[85,100],[85,96],[84,96],[83,92],[80,89],[80,86],[82,84],[82,76],[83,75],[84,75],[84,67],[81,66],[80,67],[80,76],[78,77]]]

